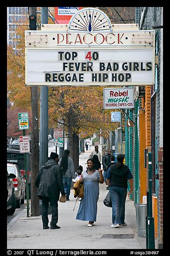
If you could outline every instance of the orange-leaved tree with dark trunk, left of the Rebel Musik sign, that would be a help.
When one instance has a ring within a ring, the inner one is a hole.
[[[91,137],[101,131],[101,136],[107,137],[117,128],[117,124],[110,122],[110,110],[103,110],[102,91],[101,87],[50,88],[49,124],[54,127],[58,119],[63,119],[70,154],[76,166],[79,134],[82,138],[85,133]]]

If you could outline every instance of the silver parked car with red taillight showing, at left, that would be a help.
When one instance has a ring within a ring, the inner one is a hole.
[[[25,181],[18,165],[7,163],[8,173],[13,173],[16,177],[12,180],[14,185],[14,194],[16,196],[16,207],[20,208],[20,204],[24,204],[25,200]]]

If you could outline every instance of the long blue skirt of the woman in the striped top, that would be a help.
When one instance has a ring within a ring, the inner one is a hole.
[[[94,181],[84,181],[84,197],[80,201],[76,219],[95,222],[97,219],[98,199],[99,184]]]

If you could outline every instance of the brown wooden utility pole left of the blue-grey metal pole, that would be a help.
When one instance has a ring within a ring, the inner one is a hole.
[[[36,30],[36,7],[29,9],[29,30]],[[31,212],[39,216],[39,198],[35,187],[36,176],[39,172],[39,88],[31,87],[32,135],[31,135]]]

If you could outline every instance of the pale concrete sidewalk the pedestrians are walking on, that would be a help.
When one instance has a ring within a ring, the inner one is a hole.
[[[91,148],[92,150],[92,148]],[[86,167],[91,150],[79,155],[79,164]],[[112,229],[112,208],[103,201],[108,192],[106,184],[99,184],[97,222],[87,227],[88,222],[78,221],[76,214],[79,201],[75,202],[73,189],[70,201],[58,202],[58,230],[43,230],[41,215],[26,217],[26,209],[7,226],[8,249],[145,249],[145,238],[137,237],[136,212],[134,202],[125,203],[125,222],[127,226]],[[73,211],[73,208],[75,210]],[[51,215],[49,215],[49,222]]]

